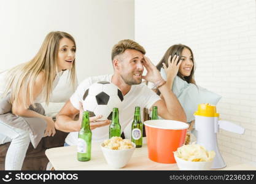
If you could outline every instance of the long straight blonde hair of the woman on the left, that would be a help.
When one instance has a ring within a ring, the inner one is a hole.
[[[4,91],[4,96],[11,91],[11,103],[14,102],[15,98],[18,98],[20,93],[29,94],[29,97],[27,98],[25,95],[24,98],[21,99],[21,102],[23,105],[25,105],[25,108],[28,108],[26,107],[26,101],[29,99],[30,104],[34,106],[33,84],[36,81],[39,73],[43,71],[44,89],[42,92],[45,91],[45,102],[48,104],[50,94],[53,90],[53,81],[58,74],[58,47],[60,45],[60,40],[63,37],[72,40],[76,47],[76,42],[70,34],[62,31],[53,31],[47,34],[41,48],[39,49],[39,52],[36,54],[36,56],[34,56],[33,59],[27,63],[19,64],[18,66],[10,69],[8,72],[8,82],[6,91]],[[72,64],[71,70],[69,71],[69,80],[74,88],[76,81],[75,61]]]

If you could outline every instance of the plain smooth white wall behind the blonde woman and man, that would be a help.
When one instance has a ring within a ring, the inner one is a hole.
[[[113,45],[134,39],[134,0],[0,0],[0,28],[0,71],[33,58],[50,31],[66,31],[80,82],[111,73]]]

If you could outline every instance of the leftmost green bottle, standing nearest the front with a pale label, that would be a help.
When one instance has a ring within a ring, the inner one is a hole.
[[[89,161],[91,159],[91,129],[89,112],[83,112],[82,126],[78,134],[77,159]]]

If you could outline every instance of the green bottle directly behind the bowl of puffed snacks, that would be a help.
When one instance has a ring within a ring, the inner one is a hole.
[[[118,108],[115,107],[113,108],[112,122],[111,125],[109,125],[109,139],[114,136],[121,136],[121,125],[119,124]]]

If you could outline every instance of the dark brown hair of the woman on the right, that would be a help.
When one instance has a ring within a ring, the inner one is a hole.
[[[182,76],[179,72],[177,73],[177,76],[179,76],[181,79],[185,80],[187,83],[196,84],[195,78],[194,78],[194,72],[195,72],[194,56],[193,56],[193,52],[192,52],[191,48],[189,48],[187,45],[177,44],[177,45],[172,45],[171,47],[169,47],[168,50],[166,50],[165,55],[163,55],[163,58],[157,64],[157,69],[158,69],[158,71],[160,71],[161,67],[163,67],[163,63],[165,63],[166,67],[168,67],[168,58],[169,58],[169,56],[171,56],[171,58],[173,58],[174,55],[177,55],[180,58],[182,50],[184,48],[187,48],[191,52],[193,67],[192,67],[191,73],[188,77]]]

